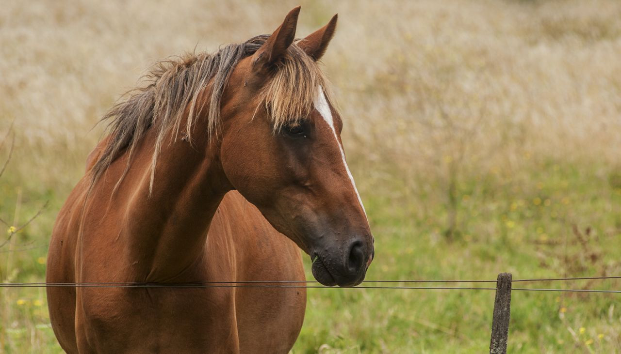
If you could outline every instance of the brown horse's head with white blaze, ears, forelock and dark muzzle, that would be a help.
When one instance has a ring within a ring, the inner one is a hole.
[[[354,286],[373,259],[373,236],[347,166],[343,122],[317,61],[337,16],[294,40],[299,7],[230,73],[220,104],[226,179],[279,232],[311,255],[324,285]]]

